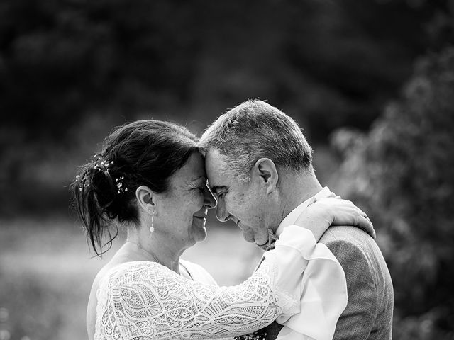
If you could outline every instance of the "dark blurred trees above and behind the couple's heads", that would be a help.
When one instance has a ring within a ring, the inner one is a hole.
[[[453,11],[452,0],[3,0],[0,214],[66,212],[77,164],[138,118],[201,132],[262,98],[313,144],[365,130],[414,58],[454,41]]]

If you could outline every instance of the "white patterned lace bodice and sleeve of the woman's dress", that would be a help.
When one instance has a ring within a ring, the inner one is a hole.
[[[213,339],[250,333],[270,324],[281,314],[282,303],[289,302],[275,291],[273,277],[274,269],[265,265],[241,285],[217,287],[182,278],[158,263],[123,263],[100,282],[94,339]]]

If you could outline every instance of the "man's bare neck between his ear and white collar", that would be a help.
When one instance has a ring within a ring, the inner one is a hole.
[[[308,200],[322,189],[319,180],[312,171],[309,174],[287,173],[281,178],[282,181],[279,187],[281,196],[281,216],[279,223],[282,222],[294,208],[297,208],[298,205],[305,200]]]

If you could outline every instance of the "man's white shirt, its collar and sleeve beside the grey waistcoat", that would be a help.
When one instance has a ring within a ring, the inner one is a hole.
[[[327,197],[336,197],[328,187],[294,208],[277,227],[276,235],[293,225],[309,204]],[[279,240],[277,241],[279,242]],[[315,242],[315,239],[314,239]],[[309,253],[308,253],[309,254]],[[267,253],[264,254],[266,258]],[[333,339],[336,323],[347,307],[347,281],[341,263],[325,244],[317,243],[303,273],[299,313],[285,314],[276,321],[284,327],[276,340]]]

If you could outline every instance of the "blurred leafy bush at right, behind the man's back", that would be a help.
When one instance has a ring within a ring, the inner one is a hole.
[[[370,212],[397,339],[454,339],[454,47],[422,57],[370,132],[339,130],[341,191]]]

